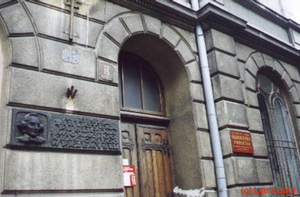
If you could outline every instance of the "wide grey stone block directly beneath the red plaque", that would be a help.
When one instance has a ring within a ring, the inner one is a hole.
[[[258,183],[257,168],[253,158],[230,157],[224,159],[227,185]]]

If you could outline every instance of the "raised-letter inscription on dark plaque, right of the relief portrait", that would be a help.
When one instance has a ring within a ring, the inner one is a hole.
[[[63,116],[53,119],[50,127],[50,141],[54,147],[119,150],[119,132],[109,120]]]

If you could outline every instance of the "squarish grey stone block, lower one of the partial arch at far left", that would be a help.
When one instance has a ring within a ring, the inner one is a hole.
[[[10,38],[12,43],[12,64],[38,67],[38,50],[35,37]]]

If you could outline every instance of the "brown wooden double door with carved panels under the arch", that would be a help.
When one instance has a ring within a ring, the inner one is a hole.
[[[164,128],[122,123],[123,159],[136,168],[136,186],[126,197],[172,196],[169,143]]]

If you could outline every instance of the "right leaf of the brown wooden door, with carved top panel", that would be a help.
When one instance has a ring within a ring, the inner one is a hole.
[[[169,147],[166,130],[137,126],[140,194],[165,197],[172,191]]]

